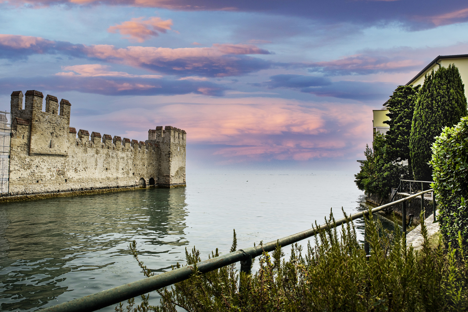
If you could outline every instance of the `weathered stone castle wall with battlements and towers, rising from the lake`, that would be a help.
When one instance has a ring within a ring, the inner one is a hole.
[[[70,127],[71,104],[35,90],[11,94],[7,196],[185,186],[187,133],[171,126],[145,142]],[[77,138],[78,135],[78,138]]]

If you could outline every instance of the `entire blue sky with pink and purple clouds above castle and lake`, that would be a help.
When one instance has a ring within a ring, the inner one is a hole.
[[[357,172],[372,110],[466,53],[466,0],[0,0],[0,109],[38,90],[77,130],[183,129],[189,173]]]

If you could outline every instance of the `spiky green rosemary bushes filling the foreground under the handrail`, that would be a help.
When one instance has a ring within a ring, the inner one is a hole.
[[[424,218],[421,218],[424,220]],[[326,222],[333,225],[334,218]],[[431,248],[424,221],[421,251],[407,248],[402,232],[383,231],[372,215],[366,221],[371,256],[366,258],[352,222],[320,232],[306,249],[291,247],[285,260],[280,246],[259,257],[259,269],[246,275],[234,265],[199,274],[200,253],[195,247],[185,256],[194,266],[190,279],[170,289],[157,290],[160,305],[148,304],[149,295],[133,307],[130,299],[117,312],[157,311],[466,311],[468,260],[459,235],[459,246],[443,249],[442,238]],[[234,242],[231,251],[236,250]],[[130,245],[145,276],[151,270],[138,260],[136,244]],[[457,257],[455,257],[457,254]],[[217,257],[218,250],[209,257]],[[180,267],[179,264],[176,266]],[[239,288],[239,282],[241,288]],[[183,310],[182,310],[183,309]]]

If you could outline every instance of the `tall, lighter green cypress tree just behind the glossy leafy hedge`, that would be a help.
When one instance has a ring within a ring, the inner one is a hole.
[[[431,145],[446,126],[467,115],[467,99],[458,68],[451,64],[424,77],[415,105],[409,154],[416,180],[432,181]]]

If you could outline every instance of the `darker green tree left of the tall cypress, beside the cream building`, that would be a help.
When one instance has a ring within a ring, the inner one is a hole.
[[[384,121],[390,126],[385,137],[387,141],[386,153],[390,160],[408,160],[409,168],[411,168],[409,136],[419,87],[421,85],[416,87],[398,86],[386,103],[387,116],[390,117],[390,120]]]

